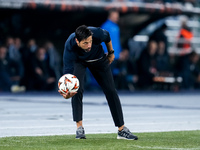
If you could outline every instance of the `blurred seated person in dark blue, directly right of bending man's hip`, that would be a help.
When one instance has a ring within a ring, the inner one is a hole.
[[[121,51],[119,59],[114,64],[114,81],[118,90],[135,90],[138,81],[135,63],[130,60],[129,51]]]

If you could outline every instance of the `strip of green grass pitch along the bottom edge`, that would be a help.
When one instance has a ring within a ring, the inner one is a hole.
[[[200,130],[134,134],[137,141],[117,140],[117,134],[3,137],[0,150],[200,150]]]

